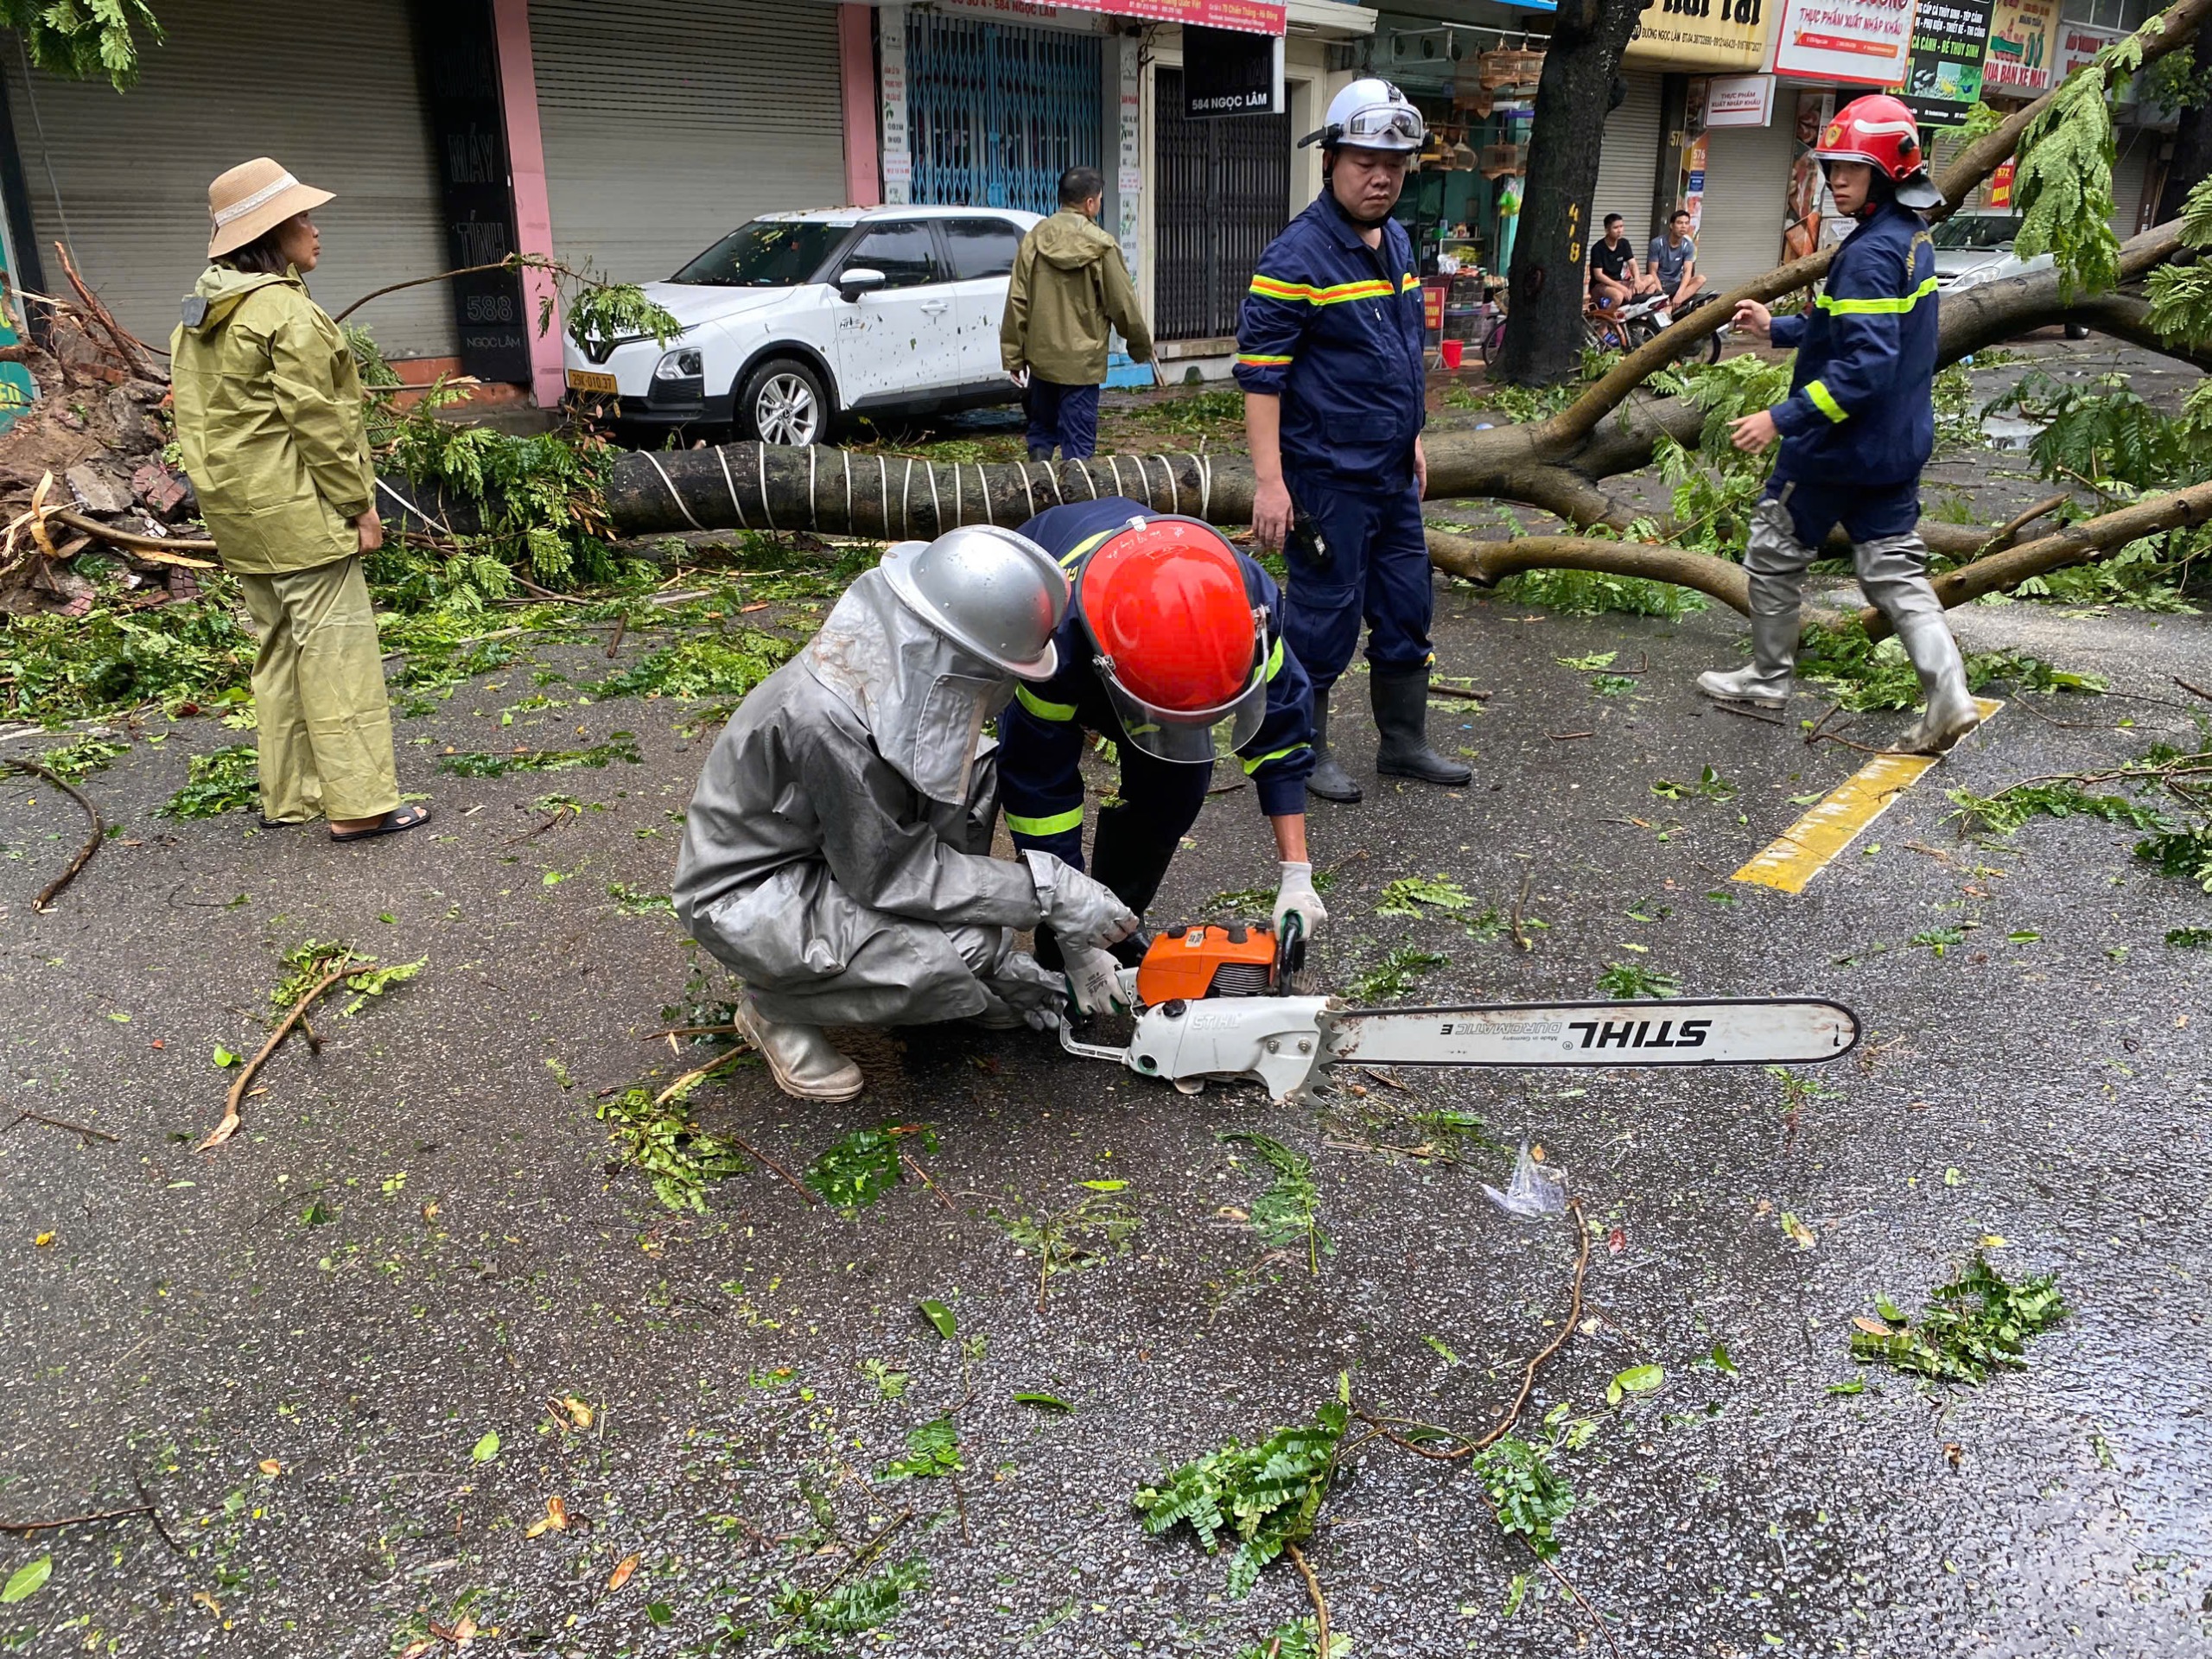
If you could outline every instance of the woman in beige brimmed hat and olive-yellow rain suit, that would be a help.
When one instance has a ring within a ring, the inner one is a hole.
[[[208,186],[208,270],[170,336],[177,442],[261,635],[261,821],[363,841],[429,821],[400,805],[392,710],[361,560],[383,546],[354,356],[305,272],[327,190],[268,157]]]

